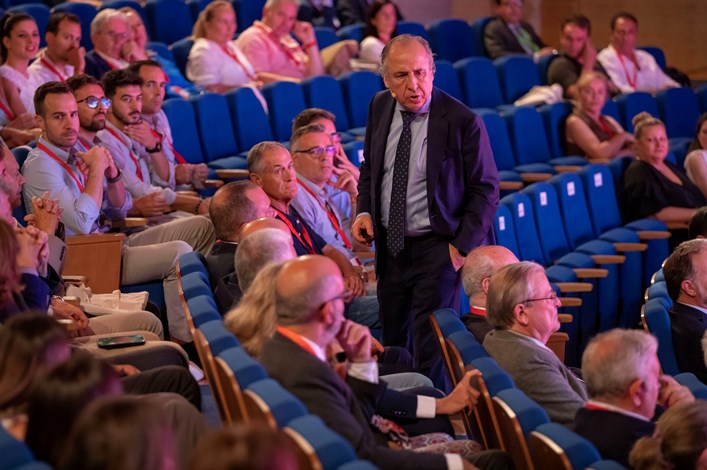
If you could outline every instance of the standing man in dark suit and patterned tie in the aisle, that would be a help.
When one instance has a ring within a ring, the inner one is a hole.
[[[427,41],[397,36],[381,63],[388,91],[371,101],[351,231],[376,241],[384,344],[410,341],[415,366],[441,378],[429,315],[459,307],[459,269],[490,235],[498,171],[481,118],[433,87]]]

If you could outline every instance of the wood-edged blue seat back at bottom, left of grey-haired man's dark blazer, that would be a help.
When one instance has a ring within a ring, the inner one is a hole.
[[[584,469],[601,459],[591,442],[557,423],[538,426],[528,444],[537,468]]]

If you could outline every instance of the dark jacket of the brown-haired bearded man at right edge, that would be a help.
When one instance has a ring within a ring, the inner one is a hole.
[[[702,349],[702,337],[707,330],[705,314],[678,302],[670,309],[670,329],[680,372],[692,372],[707,383],[707,366]]]

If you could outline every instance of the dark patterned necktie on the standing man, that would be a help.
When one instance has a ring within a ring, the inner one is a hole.
[[[405,242],[405,202],[408,189],[408,167],[410,166],[410,144],[412,130],[410,124],[415,113],[400,111],[403,118],[403,131],[400,133],[398,147],[395,150],[393,165],[393,188],[390,193],[390,211],[388,213],[388,249],[393,256],[403,251]]]

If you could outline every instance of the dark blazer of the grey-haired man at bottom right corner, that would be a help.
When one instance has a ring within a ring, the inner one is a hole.
[[[653,435],[655,423],[615,411],[580,408],[574,432],[594,444],[602,458],[628,466],[628,454],[636,441]]]

